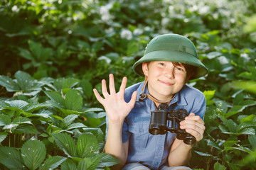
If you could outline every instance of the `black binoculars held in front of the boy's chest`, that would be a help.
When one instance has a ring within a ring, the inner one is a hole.
[[[152,135],[164,135],[167,131],[170,131],[177,134],[178,140],[183,140],[187,145],[193,145],[196,142],[196,137],[179,128],[179,123],[186,116],[188,116],[188,112],[185,109],[169,111],[168,104],[161,103],[156,111],[151,112],[149,132]],[[171,128],[167,127],[167,120],[171,122]]]

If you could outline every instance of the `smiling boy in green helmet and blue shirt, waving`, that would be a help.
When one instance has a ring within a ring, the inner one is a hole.
[[[122,162],[115,169],[190,169],[184,165],[191,158],[193,145],[176,139],[176,133],[151,135],[149,123],[151,111],[160,103],[167,103],[170,111],[184,108],[189,115],[181,121],[180,128],[196,137],[197,142],[202,140],[206,98],[201,91],[186,85],[189,79],[208,72],[198,60],[196,47],[181,35],[159,35],[149,42],[133,69],[145,77],[144,82],[125,89],[124,77],[116,93],[114,76],[110,74],[110,93],[102,80],[105,98],[93,90],[107,113],[105,152]]]

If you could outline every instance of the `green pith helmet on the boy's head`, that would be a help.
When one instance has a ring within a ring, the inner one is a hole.
[[[135,62],[134,72],[144,77],[143,62],[169,61],[191,64],[196,67],[190,79],[203,77],[208,69],[198,60],[196,47],[191,40],[178,34],[164,34],[153,38],[146,46],[144,56]]]

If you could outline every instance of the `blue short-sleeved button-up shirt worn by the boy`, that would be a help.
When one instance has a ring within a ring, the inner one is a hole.
[[[132,93],[137,91],[137,101],[124,120],[122,142],[129,140],[127,163],[140,162],[148,166],[149,169],[159,169],[160,166],[167,163],[169,150],[176,139],[176,133],[167,132],[166,135],[151,135],[149,133],[151,111],[155,111],[156,106],[149,98],[139,101],[143,85],[144,82],[134,84],[124,92],[124,100],[129,102]],[[149,94],[146,88],[144,94]],[[186,109],[188,114],[193,112],[203,119],[206,111],[206,98],[198,89],[185,85],[169,104],[170,110],[180,108]]]

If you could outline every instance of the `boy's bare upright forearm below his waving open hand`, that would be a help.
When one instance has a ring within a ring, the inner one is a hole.
[[[122,164],[127,160],[126,149],[122,143],[122,123],[109,123],[105,153],[119,159]]]

